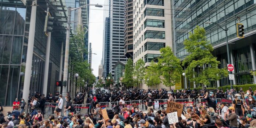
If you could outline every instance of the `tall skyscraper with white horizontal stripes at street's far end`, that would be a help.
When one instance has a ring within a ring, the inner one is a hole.
[[[114,76],[115,63],[127,61],[124,56],[124,0],[110,0],[110,10],[109,72]]]

